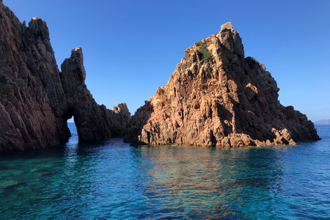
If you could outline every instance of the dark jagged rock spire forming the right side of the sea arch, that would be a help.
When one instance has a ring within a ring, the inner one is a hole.
[[[65,59],[60,72],[63,91],[67,99],[65,120],[74,115],[79,140],[100,140],[127,134],[131,113],[125,103],[113,109],[98,105],[85,85],[83,52],[80,47],[72,50],[70,58]]]

